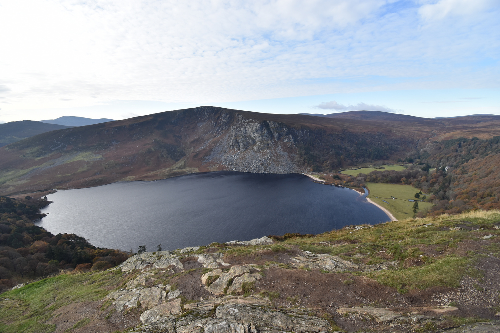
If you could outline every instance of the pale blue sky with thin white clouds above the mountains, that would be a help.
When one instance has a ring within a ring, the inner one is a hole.
[[[500,114],[500,0],[0,0],[0,121]]]

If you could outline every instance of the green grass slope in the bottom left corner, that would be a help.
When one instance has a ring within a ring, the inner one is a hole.
[[[121,286],[121,272],[67,275],[31,283],[1,295],[0,332],[53,332],[54,325],[44,324],[53,312],[70,303],[101,300],[106,286]]]

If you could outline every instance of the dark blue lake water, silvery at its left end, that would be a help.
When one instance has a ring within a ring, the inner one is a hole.
[[[389,221],[358,192],[300,174],[217,171],[57,191],[48,199],[37,225],[134,252]]]

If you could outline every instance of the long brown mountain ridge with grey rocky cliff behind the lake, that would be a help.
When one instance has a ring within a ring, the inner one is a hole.
[[[428,119],[349,111],[317,117],[201,106],[50,131],[5,146],[0,194],[215,170],[332,171],[410,155],[420,159],[425,145],[490,139],[498,128],[495,115]]]

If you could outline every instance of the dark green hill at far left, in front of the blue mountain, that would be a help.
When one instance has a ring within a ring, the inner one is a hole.
[[[70,126],[45,124],[33,120],[11,121],[0,124],[0,147],[33,135],[69,127]]]

